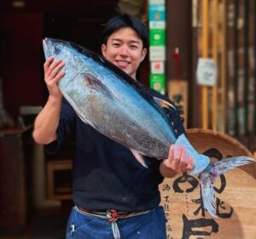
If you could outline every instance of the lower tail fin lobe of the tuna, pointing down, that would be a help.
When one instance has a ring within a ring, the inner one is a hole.
[[[216,214],[216,204],[215,204],[215,194],[213,183],[216,179],[215,176],[209,174],[207,170],[201,173],[201,197],[203,202],[203,207],[207,209],[207,212],[212,216],[212,218],[218,218]]]

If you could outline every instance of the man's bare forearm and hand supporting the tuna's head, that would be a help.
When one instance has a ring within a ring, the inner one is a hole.
[[[49,99],[44,108],[36,117],[33,129],[33,139],[38,144],[49,144],[56,139],[61,114],[62,94],[57,83],[64,77],[65,72],[61,71],[64,62],[49,57],[44,63],[44,81],[49,90]]]

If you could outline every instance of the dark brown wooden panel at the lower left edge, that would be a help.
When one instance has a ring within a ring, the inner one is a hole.
[[[31,130],[0,132],[0,236],[25,229],[32,202]]]

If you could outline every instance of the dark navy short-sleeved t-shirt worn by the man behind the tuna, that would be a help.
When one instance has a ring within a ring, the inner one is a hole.
[[[149,88],[148,93],[168,100]],[[169,118],[178,134],[184,133],[178,112],[172,111]],[[67,139],[75,140],[73,202],[77,206],[93,211],[113,208],[136,212],[159,205],[158,185],[163,180],[160,161],[146,158],[148,168],[144,168],[131,150],[82,122],[72,106],[63,100],[57,140],[46,145],[46,149],[60,150]]]

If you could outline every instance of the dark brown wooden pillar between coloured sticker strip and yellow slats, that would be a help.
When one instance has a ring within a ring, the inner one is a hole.
[[[168,81],[181,79],[188,83],[189,128],[194,123],[190,120],[192,117],[190,117],[190,111],[193,111],[191,110],[192,102],[195,100],[194,98],[198,97],[197,91],[191,90],[191,82],[194,81],[192,75],[192,48],[195,40],[192,34],[191,6],[192,1],[166,1],[167,79]],[[193,114],[195,114],[195,111],[193,111]]]

